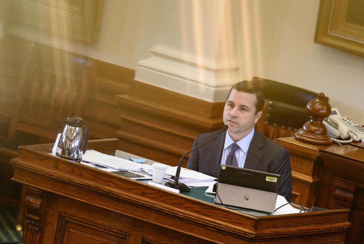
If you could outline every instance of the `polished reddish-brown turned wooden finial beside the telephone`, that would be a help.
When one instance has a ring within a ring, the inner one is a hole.
[[[324,97],[325,94],[319,93],[318,98],[307,103],[306,112],[311,119],[294,134],[298,140],[318,145],[330,145],[332,143],[323,123],[323,120],[331,114],[331,106],[324,101]]]

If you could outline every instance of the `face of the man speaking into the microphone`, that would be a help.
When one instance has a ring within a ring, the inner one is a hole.
[[[262,111],[255,113],[256,95],[233,89],[225,103],[222,116],[227,131],[233,141],[237,142],[253,130],[255,123],[262,115]]]

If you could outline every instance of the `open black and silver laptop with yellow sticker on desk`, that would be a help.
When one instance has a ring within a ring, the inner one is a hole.
[[[280,182],[279,174],[221,165],[217,193],[225,205],[273,213]]]

